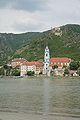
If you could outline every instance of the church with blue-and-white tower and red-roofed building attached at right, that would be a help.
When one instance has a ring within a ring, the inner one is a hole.
[[[43,74],[50,76],[50,73],[55,65],[57,66],[56,75],[64,74],[64,71],[62,70],[62,68],[64,66],[69,67],[70,62],[71,62],[71,59],[67,57],[50,58],[50,51],[49,51],[48,46],[46,46],[45,53],[44,53]]]

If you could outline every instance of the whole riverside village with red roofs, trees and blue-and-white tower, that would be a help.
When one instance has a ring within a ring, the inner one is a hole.
[[[48,46],[46,46],[43,62],[14,58],[4,66],[3,75],[21,77],[39,75],[80,76],[80,63],[74,62],[67,57],[50,58],[50,51]]]

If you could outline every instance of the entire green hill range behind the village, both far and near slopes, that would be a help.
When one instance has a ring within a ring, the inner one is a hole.
[[[42,33],[0,33],[0,63],[12,57],[41,60],[46,45],[51,57],[80,60],[80,25],[68,24]]]

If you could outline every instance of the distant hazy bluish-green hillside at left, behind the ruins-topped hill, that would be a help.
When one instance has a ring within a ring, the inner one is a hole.
[[[20,49],[30,40],[34,40],[39,33],[0,33],[0,64],[4,64],[10,59],[17,49]]]

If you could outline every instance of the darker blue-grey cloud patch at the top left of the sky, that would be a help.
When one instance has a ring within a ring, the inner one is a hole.
[[[27,10],[30,12],[36,10],[43,10],[46,6],[47,0],[1,0],[0,8],[12,8],[18,10]]]

